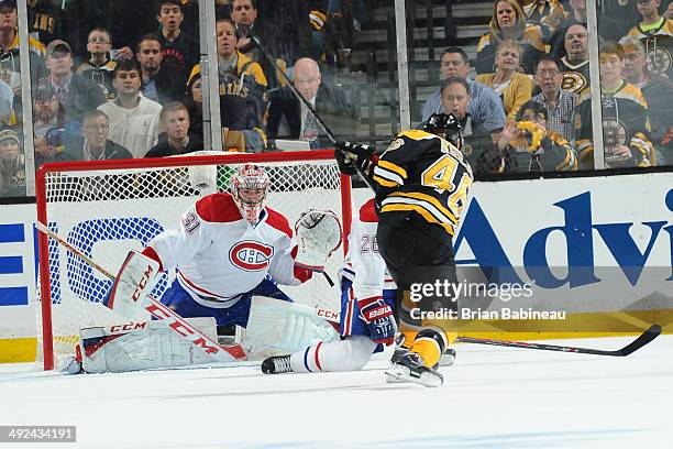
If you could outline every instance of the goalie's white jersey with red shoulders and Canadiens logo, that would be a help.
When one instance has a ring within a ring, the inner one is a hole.
[[[295,275],[293,250],[293,231],[284,216],[265,207],[252,226],[223,193],[197,201],[177,230],[162,232],[143,254],[158,260],[164,271],[177,267],[178,282],[197,303],[224,308],[267,273],[283,285],[306,281]]]

